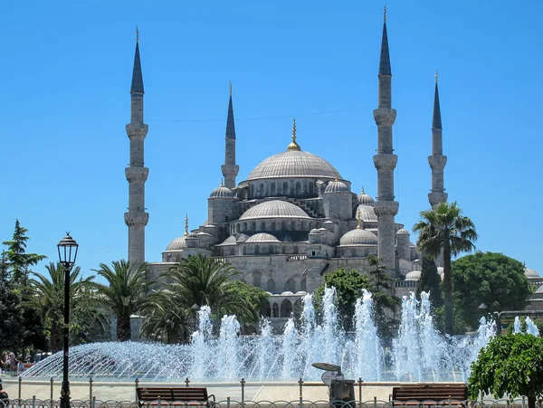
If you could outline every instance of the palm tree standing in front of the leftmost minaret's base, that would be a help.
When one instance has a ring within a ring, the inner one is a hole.
[[[117,317],[117,339],[130,339],[130,316],[138,312],[146,301],[148,285],[145,272],[146,264],[130,264],[120,260],[111,262],[111,267],[100,263],[100,268],[94,270],[109,285],[95,283],[96,289],[104,300],[104,306]]]

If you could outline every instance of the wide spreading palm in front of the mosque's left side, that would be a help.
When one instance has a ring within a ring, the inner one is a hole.
[[[224,261],[199,254],[189,256],[172,267],[167,276],[173,281],[169,288],[186,306],[209,306],[215,316],[236,315],[238,318],[259,318],[254,308],[233,285],[234,277],[240,275],[233,266]]]

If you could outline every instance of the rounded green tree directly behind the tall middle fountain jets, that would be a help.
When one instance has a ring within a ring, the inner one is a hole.
[[[357,299],[362,297],[362,289],[371,290],[371,282],[358,270],[333,270],[324,275],[324,280],[315,290],[315,305],[322,304],[325,288],[336,288],[338,296],[338,315],[343,318],[346,330],[352,329],[352,318],[355,315]],[[347,317],[347,318],[346,318]]]

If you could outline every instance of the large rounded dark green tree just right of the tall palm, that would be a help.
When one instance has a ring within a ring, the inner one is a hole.
[[[481,252],[452,262],[454,304],[460,308],[466,323],[478,326],[484,303],[489,313],[522,310],[531,294],[524,265],[506,255]]]

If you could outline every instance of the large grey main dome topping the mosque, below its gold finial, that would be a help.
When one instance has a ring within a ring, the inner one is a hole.
[[[247,180],[281,177],[336,178],[338,170],[325,159],[308,152],[291,150],[265,159],[254,167]]]

